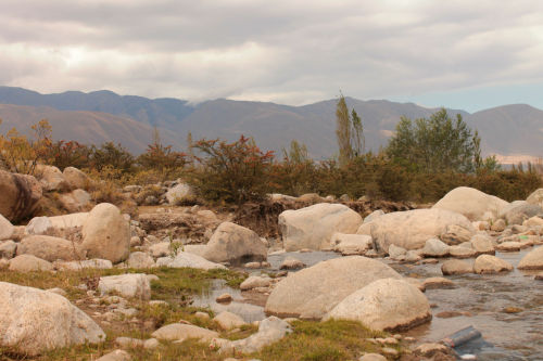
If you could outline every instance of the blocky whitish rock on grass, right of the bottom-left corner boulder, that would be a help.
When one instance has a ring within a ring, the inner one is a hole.
[[[127,298],[151,298],[151,285],[147,275],[142,273],[102,276],[98,291],[102,296],[115,293]]]

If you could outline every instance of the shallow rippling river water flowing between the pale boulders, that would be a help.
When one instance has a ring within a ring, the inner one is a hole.
[[[405,336],[415,337],[419,343],[435,343],[462,330],[473,326],[482,334],[482,339],[471,341],[456,349],[459,354],[477,354],[478,360],[543,360],[543,281],[535,281],[536,272],[516,269],[517,263],[529,250],[498,253],[498,258],[515,266],[515,270],[495,275],[446,276],[455,283],[454,288],[427,289],[426,296],[432,305],[431,322],[415,327]],[[287,257],[294,257],[307,265],[341,257],[329,252],[283,253],[270,255],[272,270],[278,270]],[[382,260],[405,276],[421,280],[442,276],[440,260],[437,265],[408,265]],[[473,259],[465,260],[473,262]],[[255,271],[252,270],[254,273]],[[260,273],[260,272],[256,272]],[[230,305],[215,302],[220,294],[230,293],[235,301]],[[252,322],[265,318],[263,308],[248,305],[242,293],[218,282],[214,287],[194,299],[194,306],[210,307],[215,312],[228,310]],[[517,313],[506,313],[506,308],[517,308]],[[463,315],[442,318],[441,312],[462,312]]]

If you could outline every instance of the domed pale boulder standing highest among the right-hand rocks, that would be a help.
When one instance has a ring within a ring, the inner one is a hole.
[[[487,220],[485,214],[498,217],[507,202],[469,186],[458,186],[445,194],[432,208],[446,209],[466,216],[471,221]]]

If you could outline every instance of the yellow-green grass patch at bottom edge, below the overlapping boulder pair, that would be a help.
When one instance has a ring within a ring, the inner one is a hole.
[[[363,352],[380,350],[366,338],[386,336],[354,321],[295,321],[292,328],[290,335],[253,357],[265,361],[357,360]]]

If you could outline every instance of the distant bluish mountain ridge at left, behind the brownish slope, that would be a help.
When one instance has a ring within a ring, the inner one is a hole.
[[[50,106],[59,111],[102,112],[128,116],[147,125],[168,129],[175,129],[193,109],[186,101],[178,99],[151,100],[143,96],[122,96],[106,90],[90,93],[66,91],[59,94],[40,94],[13,87],[0,87],[0,103]]]

